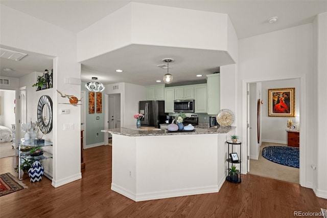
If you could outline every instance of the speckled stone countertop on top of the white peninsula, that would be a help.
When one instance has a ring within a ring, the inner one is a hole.
[[[165,136],[165,135],[196,135],[196,134],[221,134],[228,133],[236,126],[220,126],[210,128],[195,128],[194,131],[170,132],[167,129],[136,129],[134,127],[121,127],[101,130],[103,133],[118,134],[124,136]]]

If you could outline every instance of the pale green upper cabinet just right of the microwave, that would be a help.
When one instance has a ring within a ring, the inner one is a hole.
[[[194,85],[195,113],[207,113],[207,85]]]

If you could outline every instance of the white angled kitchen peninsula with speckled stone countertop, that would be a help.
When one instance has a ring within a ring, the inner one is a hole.
[[[233,126],[190,132],[113,128],[111,190],[133,201],[218,192]]]

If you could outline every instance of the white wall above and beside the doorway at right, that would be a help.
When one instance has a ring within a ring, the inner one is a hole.
[[[312,149],[308,147],[313,146],[315,129],[314,121],[311,119],[312,111],[309,110],[313,105],[314,90],[312,31],[312,24],[306,24],[239,40],[239,85],[243,84],[244,86],[243,81],[266,81],[286,77],[302,77],[302,80],[306,81],[301,87],[301,89],[305,89],[303,90],[305,96],[301,96],[304,108],[301,108],[303,112],[300,118],[300,122],[306,121],[306,133],[303,133],[302,139],[300,139],[302,142],[300,146],[303,146],[302,150],[305,150],[302,153],[302,160],[304,159],[306,162],[300,168],[300,175],[304,175],[305,179],[304,181],[300,180],[300,184],[306,187],[311,187],[313,182]],[[246,105],[244,88],[238,90],[236,96],[238,102]],[[242,107],[240,108],[237,117],[242,122],[238,125],[240,127],[238,129],[242,131],[243,136],[246,136],[246,119],[243,117]],[[306,108],[308,108],[307,111]],[[306,147],[308,149],[305,149]],[[243,154],[246,154],[246,147],[244,146],[243,149]],[[246,168],[246,163],[243,163],[243,166]]]

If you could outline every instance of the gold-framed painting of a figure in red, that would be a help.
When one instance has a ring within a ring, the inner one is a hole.
[[[268,89],[268,117],[295,117],[295,88]]]

